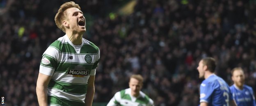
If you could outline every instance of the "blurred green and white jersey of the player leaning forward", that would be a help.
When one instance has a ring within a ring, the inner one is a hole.
[[[154,102],[142,91],[138,97],[133,97],[131,89],[127,88],[117,92],[107,106],[154,106]]]

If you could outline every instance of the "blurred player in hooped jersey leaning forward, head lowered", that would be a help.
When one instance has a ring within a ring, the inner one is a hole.
[[[117,92],[107,106],[154,106],[154,102],[141,90],[143,77],[132,75],[129,87]]]

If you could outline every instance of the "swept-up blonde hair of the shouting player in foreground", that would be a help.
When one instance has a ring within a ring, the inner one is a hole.
[[[62,25],[62,21],[67,19],[67,13],[66,13],[66,9],[69,8],[78,8],[79,10],[81,10],[80,6],[78,4],[75,4],[75,2],[71,1],[71,2],[65,2],[64,4],[62,4],[59,7],[58,12],[55,15],[55,24],[57,25],[57,27],[59,29],[61,29],[64,33],[66,33],[66,29],[65,27]]]

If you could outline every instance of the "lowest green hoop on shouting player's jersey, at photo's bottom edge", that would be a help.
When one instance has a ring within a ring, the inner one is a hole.
[[[85,106],[85,104],[82,102],[62,99],[55,96],[48,95],[47,99],[48,99],[48,105],[51,104],[51,105],[59,105],[59,106]]]

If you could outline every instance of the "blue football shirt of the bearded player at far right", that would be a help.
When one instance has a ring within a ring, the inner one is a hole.
[[[240,90],[237,86],[230,86],[233,99],[238,106],[256,106],[253,90],[250,86],[244,85]]]

